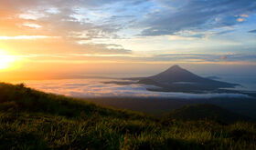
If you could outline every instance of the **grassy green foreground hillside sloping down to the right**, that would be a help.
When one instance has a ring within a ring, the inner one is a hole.
[[[177,121],[0,84],[0,149],[256,149],[256,125]]]

